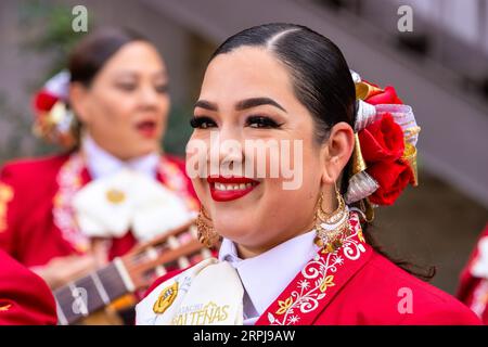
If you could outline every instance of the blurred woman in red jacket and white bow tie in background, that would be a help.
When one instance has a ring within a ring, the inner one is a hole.
[[[56,288],[185,223],[197,208],[183,163],[160,149],[170,99],[153,43],[104,29],[36,95],[37,133],[66,153],[8,163],[0,248]]]

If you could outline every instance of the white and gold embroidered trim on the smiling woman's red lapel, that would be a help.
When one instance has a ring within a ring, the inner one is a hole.
[[[268,312],[271,325],[293,325],[300,316],[311,313],[319,308],[320,301],[328,295],[328,288],[335,286],[334,278],[341,271],[345,258],[356,261],[365,252],[361,223],[356,213],[349,217],[350,233],[344,244],[334,253],[319,252],[301,270],[303,279],[296,284],[285,300],[279,300],[279,309]]]

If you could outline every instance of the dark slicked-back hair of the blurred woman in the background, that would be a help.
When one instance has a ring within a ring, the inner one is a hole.
[[[147,41],[130,29],[103,28],[86,36],[69,55],[68,69],[72,82],[89,87],[105,63],[125,44]]]

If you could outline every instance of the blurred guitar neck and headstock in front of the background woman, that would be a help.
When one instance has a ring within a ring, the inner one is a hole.
[[[196,237],[194,222],[171,230],[123,257],[53,292],[57,323],[75,324],[115,299],[147,288],[168,271],[183,269],[211,257]]]

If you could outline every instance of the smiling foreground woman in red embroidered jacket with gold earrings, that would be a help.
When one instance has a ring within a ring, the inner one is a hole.
[[[189,146],[198,141],[210,152],[215,136],[220,143],[300,141],[301,162],[288,159],[301,163],[303,181],[284,189],[283,176],[220,170],[192,178],[201,241],[222,237],[219,258],[156,281],[137,322],[478,324],[364,237],[371,202],[393,203],[415,182],[419,129],[400,103],[391,88],[351,74],[339,49],[307,27],[268,24],[226,40],[207,66]],[[229,147],[219,145],[219,169],[257,160],[245,145]],[[194,155],[211,165],[202,151],[188,153],[188,163]],[[265,156],[267,168],[274,159]]]

